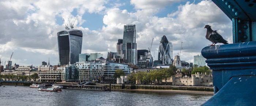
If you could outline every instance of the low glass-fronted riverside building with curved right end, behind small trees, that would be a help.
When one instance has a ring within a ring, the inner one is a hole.
[[[128,64],[122,63],[102,63],[103,65],[103,75],[104,76],[114,76],[114,73],[117,69],[121,69],[124,71],[125,75],[131,74],[131,68],[129,68]]]

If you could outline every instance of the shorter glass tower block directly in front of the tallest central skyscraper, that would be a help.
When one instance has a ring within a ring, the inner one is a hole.
[[[126,43],[126,62],[132,63],[134,65],[137,64],[137,46],[136,43]]]

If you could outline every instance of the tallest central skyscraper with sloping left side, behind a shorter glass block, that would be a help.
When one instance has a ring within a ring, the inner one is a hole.
[[[126,43],[136,43],[136,36],[135,36],[135,24],[127,24],[124,26],[124,36],[123,36],[123,46],[122,51],[124,56],[126,57]],[[127,59],[127,58],[125,58]]]

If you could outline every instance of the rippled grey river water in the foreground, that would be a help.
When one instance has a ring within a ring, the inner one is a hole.
[[[1,106],[199,106],[212,95],[147,91],[38,91],[24,86],[1,86]]]

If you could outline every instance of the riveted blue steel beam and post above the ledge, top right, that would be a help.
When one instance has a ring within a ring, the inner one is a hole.
[[[233,22],[233,42],[256,41],[256,0],[212,0]]]

